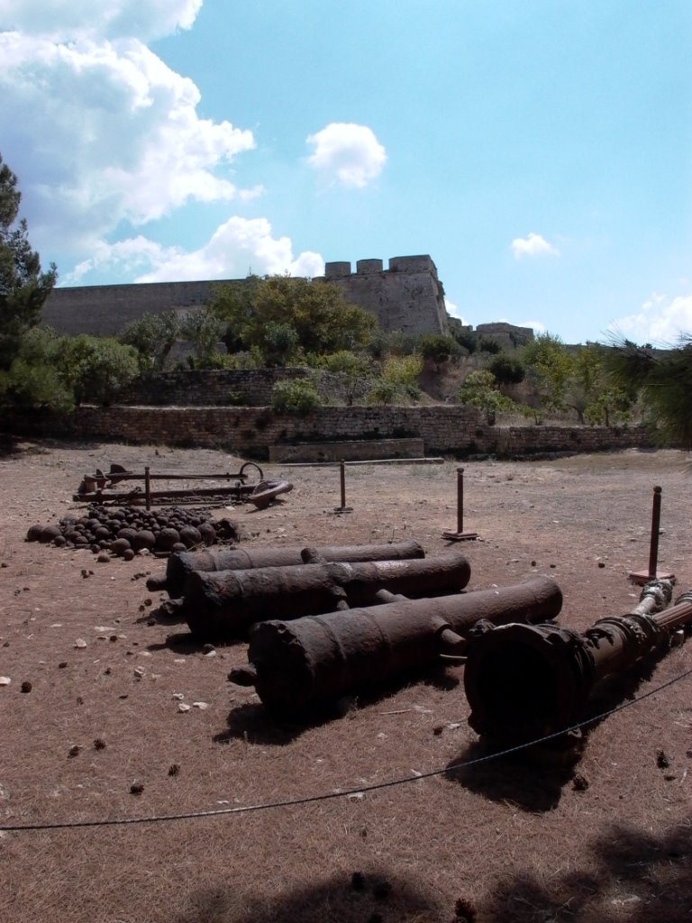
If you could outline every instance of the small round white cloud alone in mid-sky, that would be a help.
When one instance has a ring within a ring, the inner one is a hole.
[[[376,179],[387,162],[387,152],[372,128],[332,122],[306,143],[313,148],[307,162],[328,182],[362,187]]]

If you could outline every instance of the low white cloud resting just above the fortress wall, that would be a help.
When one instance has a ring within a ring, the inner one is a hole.
[[[161,246],[139,234],[114,244],[100,242],[88,260],[64,280],[76,285],[92,271],[106,270],[111,277],[125,275],[135,282],[169,280],[242,279],[248,272],[257,275],[289,272],[294,276],[324,274],[324,259],[318,253],[292,254],[289,237],[273,237],[266,218],[233,217],[212,234],[197,250]]]

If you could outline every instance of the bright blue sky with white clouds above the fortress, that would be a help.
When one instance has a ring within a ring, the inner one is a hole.
[[[60,284],[428,253],[448,310],[692,331],[689,0],[0,0]]]

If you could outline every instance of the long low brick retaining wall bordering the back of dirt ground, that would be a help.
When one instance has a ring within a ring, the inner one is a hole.
[[[0,414],[8,433],[34,437],[119,439],[153,445],[198,445],[268,457],[268,447],[292,442],[423,438],[425,453],[501,456],[544,451],[601,451],[650,445],[638,426],[485,426],[469,406],[322,407],[307,417],[279,416],[263,407],[81,407],[62,419]]]

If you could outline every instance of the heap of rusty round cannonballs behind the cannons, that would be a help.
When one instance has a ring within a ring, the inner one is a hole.
[[[111,552],[132,560],[137,552],[171,554],[239,538],[235,523],[210,520],[202,509],[141,509],[92,503],[84,516],[65,516],[54,525],[32,525],[28,542]]]

